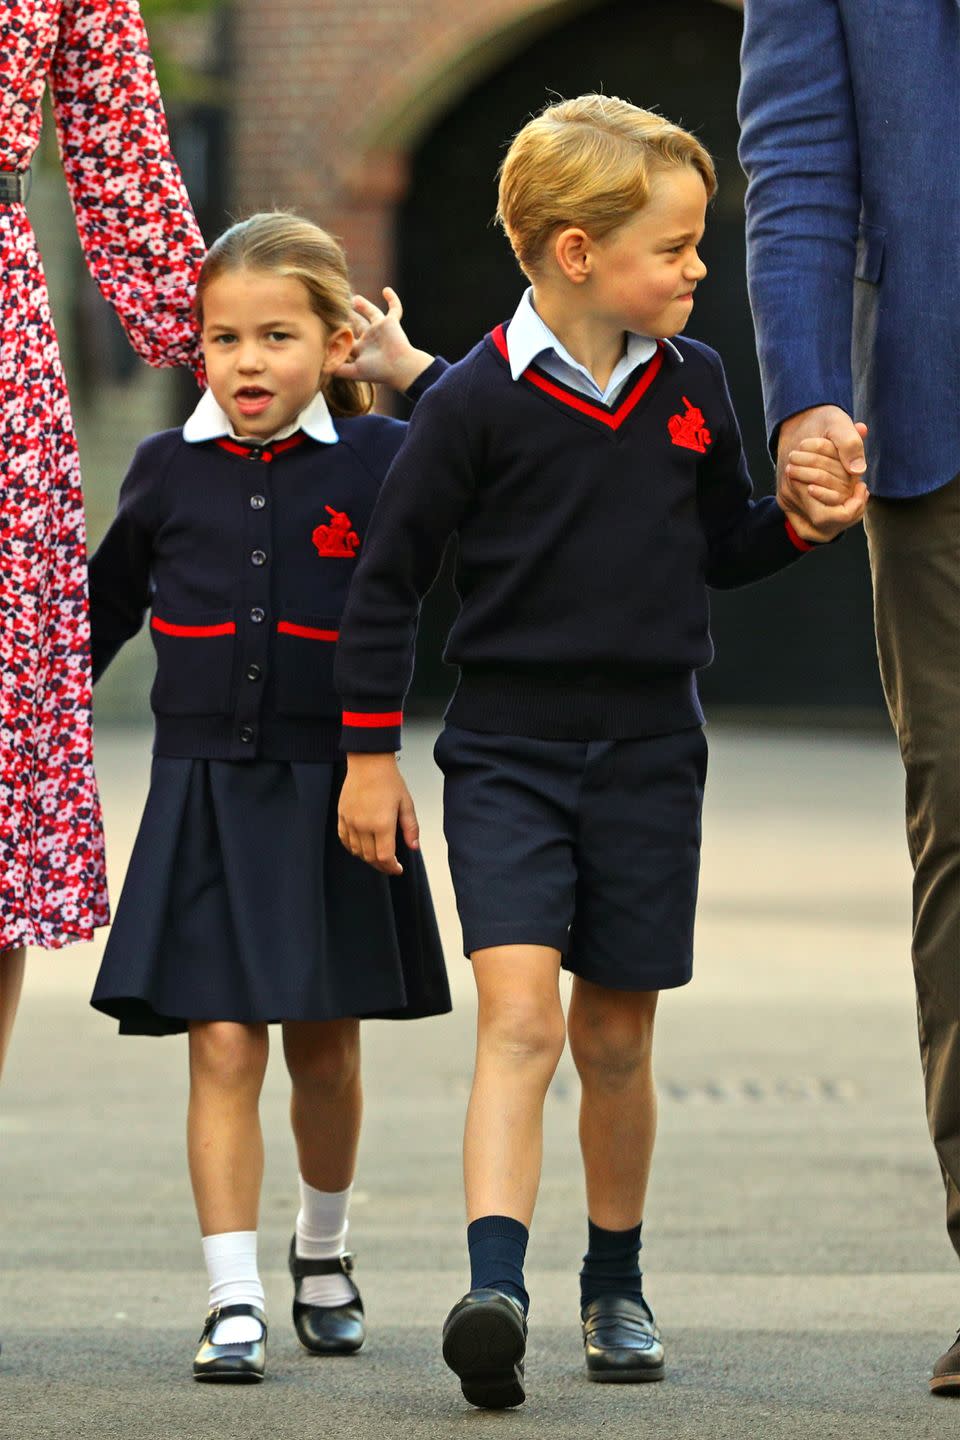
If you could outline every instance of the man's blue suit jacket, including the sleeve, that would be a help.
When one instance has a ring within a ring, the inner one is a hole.
[[[740,160],[767,429],[869,425],[879,495],[960,469],[960,0],[746,0]]]

